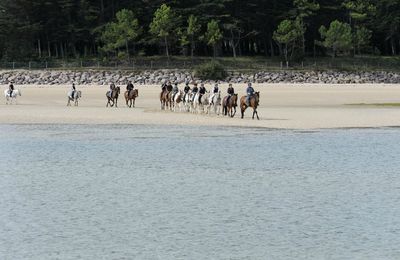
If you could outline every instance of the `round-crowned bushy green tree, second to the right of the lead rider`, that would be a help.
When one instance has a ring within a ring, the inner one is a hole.
[[[348,52],[352,48],[351,27],[347,23],[333,21],[329,29],[321,26],[319,29],[321,38],[324,39],[322,45],[325,48],[332,49],[332,57],[336,57],[338,52]]]

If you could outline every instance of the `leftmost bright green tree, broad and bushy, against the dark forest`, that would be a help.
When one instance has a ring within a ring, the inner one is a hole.
[[[139,21],[130,10],[122,9],[116,14],[116,22],[106,24],[100,40],[104,43],[102,50],[117,52],[121,47],[126,48],[124,56],[129,58],[129,42],[135,40],[141,33]],[[121,57],[118,55],[118,57]]]

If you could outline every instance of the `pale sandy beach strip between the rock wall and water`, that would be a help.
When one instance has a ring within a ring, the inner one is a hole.
[[[245,85],[235,85],[239,96]],[[354,104],[400,103],[399,85],[262,84],[258,113],[251,119],[247,110],[240,119],[161,111],[159,86],[137,86],[136,108],[125,105],[106,108],[107,86],[77,86],[82,91],[79,107],[67,107],[69,86],[16,86],[22,91],[18,105],[0,103],[1,124],[158,124],[264,127],[281,129],[321,129],[400,126],[400,107]],[[4,91],[7,86],[1,86]],[[209,89],[210,86],[207,86]],[[222,85],[223,93],[226,85]],[[124,90],[125,87],[122,87]],[[353,104],[353,105],[351,105]]]

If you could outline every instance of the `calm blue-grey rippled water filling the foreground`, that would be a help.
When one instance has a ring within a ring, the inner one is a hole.
[[[400,259],[400,129],[0,125],[0,259]]]

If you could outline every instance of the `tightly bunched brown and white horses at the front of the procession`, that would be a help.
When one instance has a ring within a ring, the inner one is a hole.
[[[171,110],[174,112],[190,112],[197,114],[216,114],[220,115],[221,108],[222,114],[224,116],[234,117],[236,114],[236,108],[240,106],[241,118],[244,117],[244,112],[247,108],[253,108],[253,119],[254,116],[258,117],[257,107],[260,102],[260,92],[255,92],[253,96],[250,97],[250,102],[246,102],[247,96],[238,98],[238,94],[228,95],[224,98],[221,97],[221,91],[215,94],[205,93],[201,95],[200,93],[193,93],[189,91],[188,93],[182,90],[177,93],[163,89],[160,93],[160,104],[161,110]]]

